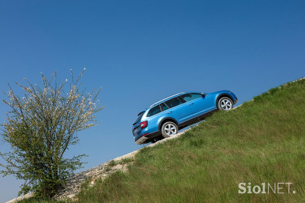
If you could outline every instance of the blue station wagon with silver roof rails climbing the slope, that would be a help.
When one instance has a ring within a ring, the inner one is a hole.
[[[216,110],[228,111],[238,102],[231,91],[185,92],[156,102],[138,114],[132,126],[135,143],[156,142],[205,119]]]

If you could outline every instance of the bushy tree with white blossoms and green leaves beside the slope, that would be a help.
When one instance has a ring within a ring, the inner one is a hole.
[[[67,177],[82,168],[85,155],[67,158],[65,152],[79,141],[78,131],[100,123],[95,114],[105,107],[97,100],[101,88],[89,93],[80,89],[84,70],[74,80],[71,69],[69,86],[68,79],[57,80],[55,71],[50,80],[41,73],[43,88],[25,78],[26,86],[16,82],[25,91],[24,97],[16,95],[10,85],[4,93],[9,100],[3,101],[12,110],[2,124],[2,140],[10,150],[0,152],[7,162],[0,164],[4,167],[0,173],[24,180],[18,195],[34,191],[36,197],[52,198]]]

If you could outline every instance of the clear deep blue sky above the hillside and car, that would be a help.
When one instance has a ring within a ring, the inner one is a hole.
[[[304,1],[1,1],[0,90],[86,67],[82,84],[103,87],[103,123],[67,155],[89,155],[88,169],[140,148],[138,112],[170,95],[227,89],[241,104],[304,77],[304,10]],[[0,104],[3,120],[8,110]],[[20,183],[0,177],[0,201]]]

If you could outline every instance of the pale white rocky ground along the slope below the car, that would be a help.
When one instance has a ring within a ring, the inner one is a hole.
[[[184,131],[173,135],[171,137],[165,138],[163,140],[160,140],[154,144],[150,144],[146,147],[153,147],[157,144],[160,144],[162,142],[165,142],[167,140],[173,139],[175,137],[178,137],[179,135],[181,135]],[[113,161],[119,162],[121,159],[124,158],[132,158],[140,149],[133,151],[131,153],[128,153],[124,156],[120,156],[117,158],[112,159]],[[76,200],[75,195],[77,195],[80,191],[81,191],[81,185],[82,183],[84,183],[84,181],[86,181],[87,179],[90,179],[91,181],[91,185],[93,185],[95,183],[95,180],[97,180],[99,177],[106,177],[109,176],[109,174],[117,171],[117,170],[122,170],[125,171],[127,169],[127,164],[117,164],[116,166],[109,166],[109,163],[112,161],[107,161],[105,163],[102,163],[99,166],[95,166],[91,169],[87,169],[84,170],[82,172],[79,173],[75,173],[74,175],[70,176],[70,178],[68,178],[67,183],[65,186],[63,186],[63,188],[61,190],[58,191],[58,194],[56,194],[54,196],[54,198],[56,200],[64,200],[64,199],[72,199],[72,200]],[[13,202],[17,202],[20,201],[22,199],[27,199],[27,198],[31,198],[33,196],[33,193],[29,193],[29,194],[25,194],[21,197],[12,199],[6,203],[13,203]]]

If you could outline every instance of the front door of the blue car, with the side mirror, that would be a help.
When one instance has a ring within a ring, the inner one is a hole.
[[[200,93],[188,93],[180,96],[182,99],[186,101],[187,104],[193,114],[192,118],[198,117],[207,113],[213,109],[215,109],[215,105],[213,99],[210,95],[202,96]]]

